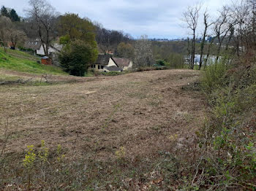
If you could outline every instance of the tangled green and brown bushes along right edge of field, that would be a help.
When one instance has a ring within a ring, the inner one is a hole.
[[[211,190],[243,187],[255,190],[256,78],[255,64],[208,66],[201,81],[211,112],[199,133],[201,169]],[[202,147],[203,146],[203,147]]]

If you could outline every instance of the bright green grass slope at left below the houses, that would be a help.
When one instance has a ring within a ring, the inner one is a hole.
[[[57,74],[67,75],[61,68],[56,66],[45,66],[37,63],[39,58],[18,50],[7,50],[0,48],[0,69],[21,71],[33,74]]]

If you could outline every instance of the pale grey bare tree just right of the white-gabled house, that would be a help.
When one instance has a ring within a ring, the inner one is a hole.
[[[153,61],[152,44],[148,41],[148,36],[140,36],[135,42],[135,67],[151,66]]]

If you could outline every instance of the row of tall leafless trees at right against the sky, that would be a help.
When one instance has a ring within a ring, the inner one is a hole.
[[[203,63],[207,64],[210,55],[215,55],[218,61],[223,52],[231,51],[239,56],[254,47],[256,39],[252,34],[255,33],[255,4],[253,0],[240,0],[226,5],[219,10],[217,18],[211,16],[206,9],[203,13],[203,23],[199,23],[202,5],[196,4],[188,7],[183,14],[183,21],[192,36],[188,39],[187,46],[190,68],[193,69],[195,66],[195,44],[199,35],[202,36],[199,69],[202,68]],[[204,29],[200,34],[199,26],[202,25]],[[209,36],[211,36],[211,41],[206,42]],[[217,51],[214,53],[211,52],[213,44],[217,45]]]

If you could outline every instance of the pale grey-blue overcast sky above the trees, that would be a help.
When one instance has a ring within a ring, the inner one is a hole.
[[[203,0],[203,8],[217,15],[217,10],[230,0]],[[182,27],[182,12],[198,0],[48,0],[58,12],[75,12],[89,17],[105,28],[124,31],[138,38],[176,39],[188,34]],[[0,5],[10,7],[25,16],[29,0],[0,0]]]

